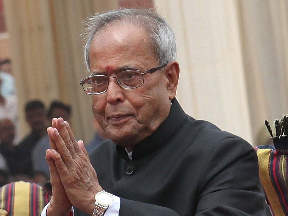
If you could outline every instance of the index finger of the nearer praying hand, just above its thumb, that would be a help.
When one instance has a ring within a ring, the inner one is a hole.
[[[72,168],[73,158],[56,128],[52,129],[51,136],[57,146],[57,151],[55,152],[61,156],[65,165],[67,165],[69,168]]]

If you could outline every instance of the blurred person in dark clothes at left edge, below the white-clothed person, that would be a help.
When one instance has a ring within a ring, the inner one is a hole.
[[[0,154],[1,169],[7,170],[10,175],[18,173],[18,164],[20,163],[13,140],[15,138],[15,127],[9,118],[0,120]]]

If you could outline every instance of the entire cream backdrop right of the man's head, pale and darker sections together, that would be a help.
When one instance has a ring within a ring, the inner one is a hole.
[[[184,109],[262,144],[264,120],[288,114],[287,1],[154,2],[176,33]]]

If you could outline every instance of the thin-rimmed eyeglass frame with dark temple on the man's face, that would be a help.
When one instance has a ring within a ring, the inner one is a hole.
[[[155,68],[151,68],[151,69],[149,69],[149,70],[146,70],[145,72],[142,72],[142,71],[137,70],[137,69],[126,70],[126,71],[127,71],[127,72],[129,72],[129,71],[139,71],[139,72],[141,73],[142,79],[143,79],[143,82],[142,82],[142,84],[141,84],[140,86],[143,86],[143,84],[144,84],[144,77],[143,77],[143,75],[145,75],[145,74],[147,74],[147,73],[154,73],[154,72],[156,72],[156,71],[159,71],[160,69],[164,68],[166,65],[168,65],[168,63],[164,63],[164,64],[162,64],[162,65],[159,65],[159,66],[155,67]],[[126,71],[120,71],[120,72],[126,72]],[[118,74],[118,73],[117,73],[117,74]],[[82,79],[79,84],[82,85],[84,92],[85,92],[86,94],[88,94],[88,95],[99,95],[99,94],[102,94],[102,93],[106,92],[107,89],[108,89],[109,82],[107,82],[107,88],[106,88],[105,91],[99,92],[99,93],[87,93],[87,92],[85,91],[85,89],[84,89],[83,81],[84,81],[85,79],[88,79],[88,78],[91,78],[91,77],[95,77],[95,76],[106,76],[106,78],[107,78],[108,81],[109,81],[109,79],[116,78],[117,83],[118,83],[119,86],[120,86],[121,88],[123,88],[123,89],[134,89],[134,88],[140,87],[140,86],[133,87],[133,88],[124,88],[124,87],[122,87],[121,84],[118,82],[117,74],[116,74],[115,76],[112,76],[112,77],[107,77],[106,75],[87,76],[87,77],[85,77],[84,79]]]

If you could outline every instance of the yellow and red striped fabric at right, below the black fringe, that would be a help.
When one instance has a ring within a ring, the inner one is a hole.
[[[288,216],[288,155],[273,146],[256,148],[259,160],[259,175],[273,215]]]

